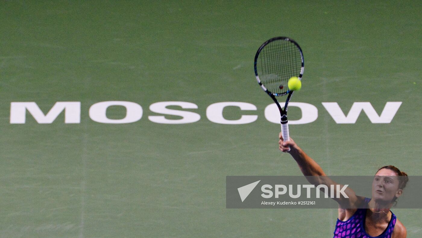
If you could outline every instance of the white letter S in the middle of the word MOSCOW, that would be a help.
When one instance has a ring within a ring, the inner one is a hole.
[[[201,119],[201,116],[195,112],[187,112],[176,109],[168,109],[168,106],[179,106],[183,109],[197,109],[198,106],[191,102],[184,101],[161,101],[153,103],[149,106],[151,112],[180,116],[181,119],[167,119],[165,116],[149,116],[148,119],[155,123],[161,124],[185,124],[194,123]]]

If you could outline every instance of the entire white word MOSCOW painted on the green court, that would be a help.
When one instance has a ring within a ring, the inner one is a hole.
[[[336,102],[322,102],[327,112],[331,115],[335,123],[356,123],[362,110],[368,116],[371,123],[391,123],[400,108],[401,101],[389,101],[385,104],[381,114],[378,115],[370,102],[354,102],[351,109],[344,114],[342,109]],[[122,106],[126,109],[126,115],[122,119],[110,119],[106,116],[107,108],[110,106]],[[162,101],[156,102],[149,106],[151,112],[162,115],[150,115],[148,119],[154,123],[162,124],[184,124],[194,123],[201,119],[196,112],[189,112],[178,109],[169,109],[170,106],[181,107],[181,109],[198,109],[198,106],[191,102],[183,101]],[[241,111],[257,110],[254,104],[246,102],[217,102],[211,104],[206,109],[208,120],[219,124],[247,124],[257,120],[257,115],[241,115],[239,119],[228,120],[223,117],[226,107],[238,107]],[[312,123],[318,118],[318,109],[312,104],[303,102],[291,102],[289,107],[298,107],[300,109],[300,119],[289,120],[289,124],[306,124]],[[236,110],[238,110],[236,109]],[[10,123],[24,124],[26,123],[26,111],[38,123],[52,123],[57,116],[64,111],[65,123],[81,123],[81,102],[62,101],[56,102],[47,114],[44,114],[35,102],[11,102],[10,107]],[[293,114],[293,113],[292,113]],[[93,104],[89,108],[89,117],[99,123],[120,124],[133,123],[142,118],[143,109],[141,105],[130,101],[103,101]],[[167,117],[165,115],[168,115]],[[270,104],[265,107],[265,118],[272,123],[280,123],[280,114],[276,104]],[[179,116],[179,118],[169,118],[169,116]],[[294,113],[296,117],[296,113]]]

